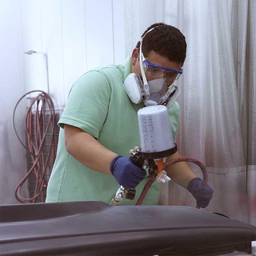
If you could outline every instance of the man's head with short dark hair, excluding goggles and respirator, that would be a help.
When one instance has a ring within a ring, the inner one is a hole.
[[[150,29],[152,30],[148,32]],[[164,23],[155,23],[145,30],[142,38],[142,52],[146,61],[157,66],[180,70],[186,58],[186,41],[179,29]],[[139,54],[140,41],[132,52],[131,72],[142,76]],[[163,76],[167,73],[167,71],[163,71]],[[146,76],[148,81],[154,79],[150,77],[149,73],[146,73]],[[167,85],[170,84],[167,81]]]

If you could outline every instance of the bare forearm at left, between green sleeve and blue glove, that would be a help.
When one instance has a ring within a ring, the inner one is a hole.
[[[116,153],[79,128],[65,125],[64,132],[66,149],[76,160],[90,169],[111,174],[110,165]]]

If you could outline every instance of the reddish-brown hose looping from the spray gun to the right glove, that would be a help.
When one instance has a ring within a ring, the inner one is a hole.
[[[169,162],[165,163],[164,164],[164,169],[168,168],[169,166],[175,164],[175,163],[179,163],[179,162],[192,162],[192,163],[195,163],[197,164],[202,173],[203,173],[203,188],[205,189],[207,187],[207,183],[208,183],[208,175],[207,175],[207,171],[206,171],[206,168],[205,166],[200,162],[198,161],[197,159],[194,159],[192,157],[178,157],[176,159],[173,159],[173,160],[170,160]],[[154,180],[156,179],[156,175],[154,174],[153,177],[151,177],[147,184],[145,185],[141,195],[140,195],[140,198],[138,199],[136,205],[140,205],[142,202],[143,202],[143,199],[145,198],[145,195],[147,194],[148,192],[148,189],[151,187],[152,183],[154,182]],[[196,208],[200,209],[200,207],[198,206],[198,204],[196,205]]]

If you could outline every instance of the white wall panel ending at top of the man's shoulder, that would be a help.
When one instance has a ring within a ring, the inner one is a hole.
[[[84,1],[87,69],[113,64],[112,1]]]

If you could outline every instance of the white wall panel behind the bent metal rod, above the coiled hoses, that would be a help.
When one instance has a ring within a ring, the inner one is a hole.
[[[23,52],[29,49],[42,51],[40,0],[23,0]],[[43,81],[43,56],[24,54],[24,79],[26,91],[46,90]]]

